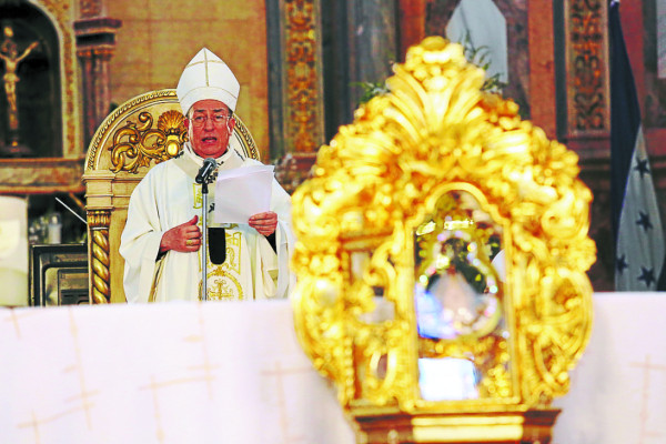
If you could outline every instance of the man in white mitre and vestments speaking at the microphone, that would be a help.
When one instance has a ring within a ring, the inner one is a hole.
[[[248,223],[224,225],[221,264],[210,258],[219,240],[209,236],[209,248],[201,245],[202,196],[195,176],[204,159],[215,159],[218,172],[260,164],[229,147],[239,92],[229,67],[205,48],[185,67],[176,94],[189,142],[178,158],[152,168],[130,199],[120,245],[128,302],[199,300],[201,254],[208,258],[209,300],[285,297],[294,287],[289,271],[291,199],[274,179],[270,211]],[[214,186],[209,190],[209,202],[214,202]],[[214,230],[220,225],[212,223],[213,211],[208,226]]]

